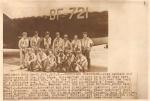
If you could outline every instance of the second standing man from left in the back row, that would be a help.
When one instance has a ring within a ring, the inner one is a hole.
[[[35,31],[34,36],[30,40],[31,48],[34,49],[35,53],[37,53],[38,48],[40,47],[40,37],[39,33]]]

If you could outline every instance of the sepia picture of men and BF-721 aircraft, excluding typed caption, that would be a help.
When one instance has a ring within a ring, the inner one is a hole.
[[[46,10],[3,14],[4,72],[107,72],[108,11]]]

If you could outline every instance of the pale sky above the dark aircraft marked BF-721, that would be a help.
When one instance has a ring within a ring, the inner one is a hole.
[[[89,11],[106,11],[107,2],[102,0],[3,0],[3,13],[10,18],[49,15],[50,9],[88,7]]]

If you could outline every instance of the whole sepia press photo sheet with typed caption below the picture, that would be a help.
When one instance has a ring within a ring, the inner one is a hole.
[[[147,67],[134,65],[139,57],[133,40],[139,37],[131,29],[146,25],[143,5],[130,0],[4,0],[3,100],[147,98],[140,90],[144,82],[143,92],[147,89]],[[132,22],[135,8],[143,15],[137,24]]]

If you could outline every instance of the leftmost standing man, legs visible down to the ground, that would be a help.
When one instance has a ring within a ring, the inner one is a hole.
[[[22,33],[22,38],[19,40],[18,47],[20,49],[20,69],[22,69],[24,68],[25,51],[29,47],[27,32]]]

